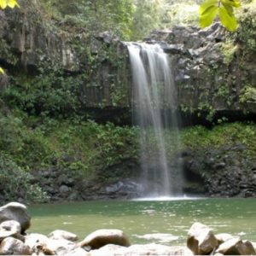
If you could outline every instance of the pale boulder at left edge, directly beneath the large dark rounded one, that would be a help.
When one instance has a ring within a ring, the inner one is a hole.
[[[3,221],[3,223],[0,224],[0,241],[3,241],[4,238],[9,236],[24,240],[20,232],[21,227],[19,222],[15,220]]]

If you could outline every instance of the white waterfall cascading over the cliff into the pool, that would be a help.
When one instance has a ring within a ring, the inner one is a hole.
[[[164,135],[177,129],[175,86],[168,55],[159,44],[127,43],[133,82],[133,118],[141,127],[141,164],[148,196],[180,195]],[[177,134],[177,133],[176,133]],[[152,152],[154,145],[154,152]]]

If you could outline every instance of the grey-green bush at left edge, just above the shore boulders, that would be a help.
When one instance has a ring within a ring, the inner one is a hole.
[[[28,202],[39,203],[48,200],[33,177],[25,172],[14,161],[0,155],[0,191],[4,201],[18,201],[20,198]]]

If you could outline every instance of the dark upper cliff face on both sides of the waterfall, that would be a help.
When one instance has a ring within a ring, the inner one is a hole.
[[[83,32],[61,37],[58,26],[50,20],[45,24],[37,12],[34,8],[27,15],[18,10],[15,15],[1,15],[4,50],[0,49],[0,61],[30,74],[44,61],[55,63],[68,75],[85,73],[78,91],[80,111],[100,121],[131,123],[132,85],[126,45],[111,32],[91,38]],[[182,113],[183,124],[223,117],[255,118],[256,102],[241,101],[241,96],[248,84],[255,84],[256,54],[244,59],[241,42],[237,47],[230,45],[232,54],[225,53],[226,33],[219,23],[204,30],[174,26],[170,31],[154,31],[145,39],[148,44],[161,44],[170,55],[177,84],[176,108]]]

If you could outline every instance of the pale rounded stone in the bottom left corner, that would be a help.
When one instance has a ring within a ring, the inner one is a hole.
[[[31,255],[30,248],[22,241],[13,237],[3,239],[0,245],[0,255]]]

